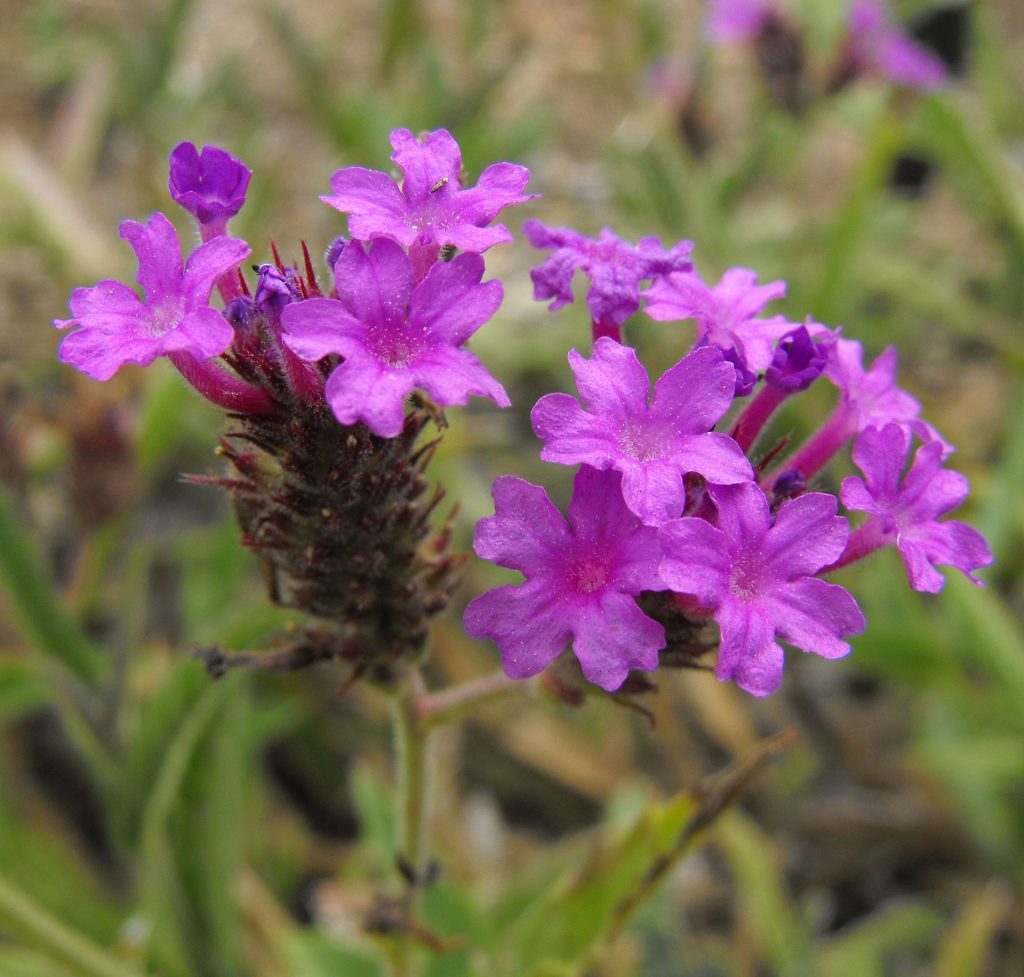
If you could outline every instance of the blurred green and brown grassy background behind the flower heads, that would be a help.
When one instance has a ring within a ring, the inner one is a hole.
[[[820,71],[841,5],[793,7]],[[428,972],[1024,973],[1016,0],[963,8],[947,91],[858,84],[797,117],[749,49],[701,48],[695,3],[0,9],[0,974],[379,973],[367,914],[396,884],[385,704],[340,696],[325,672],[213,683],[189,659],[288,624],[224,500],[179,480],[217,470],[220,419],[163,365],[105,385],[60,367],[50,321],[72,287],[130,280],[118,222],[170,211],[181,139],[252,167],[234,226],[263,260],[271,238],[289,255],[343,229],[317,201],[334,169],[386,168],[392,128],[442,125],[471,172],[531,167],[544,198],[513,226],[690,238],[708,275],[783,278],[791,317],[842,324],[872,352],[895,343],[905,386],[959,448],[961,515],[997,561],[987,589],[950,579],[935,598],[892,553],[849,571],[869,622],[854,653],[791,654],[766,702],[670,673],[643,704],[652,722],[595,697],[495,705],[449,735]],[[475,348],[515,406],[452,414],[436,470],[465,545],[496,475],[566,494],[527,415],[569,388],[565,351],[588,324],[579,304],[531,302],[537,260],[521,237],[488,255],[507,299]],[[649,322],[633,336],[662,366],[688,342]],[[805,407],[788,430],[816,423]],[[461,603],[492,582],[471,566]],[[460,608],[436,630],[434,681],[496,664]],[[697,803],[679,792],[783,728],[795,742],[620,932],[615,905]]]

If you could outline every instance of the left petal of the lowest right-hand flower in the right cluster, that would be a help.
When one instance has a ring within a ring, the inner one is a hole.
[[[703,607],[717,607],[728,592],[732,571],[726,535],[690,517],[666,522],[658,534],[665,583],[677,593],[692,594]]]

